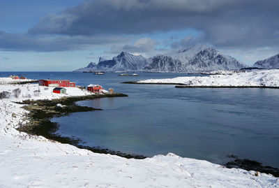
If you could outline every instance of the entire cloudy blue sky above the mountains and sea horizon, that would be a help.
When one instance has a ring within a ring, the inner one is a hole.
[[[278,0],[1,0],[0,71],[73,71],[197,43],[252,65],[279,52]]]

